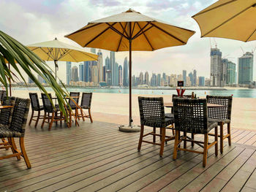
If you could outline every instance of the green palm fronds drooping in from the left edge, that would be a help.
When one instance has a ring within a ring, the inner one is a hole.
[[[10,67],[12,66],[12,70]],[[67,117],[65,106],[67,106],[68,102],[65,99],[65,95],[69,95],[66,88],[61,88],[61,86],[56,82],[56,79],[50,73],[50,67],[42,61],[35,53],[33,53],[29,48],[25,45],[22,45],[17,40],[10,37],[8,34],[0,31],[0,82],[4,85],[8,93],[8,83],[11,81],[15,81],[14,77],[20,76],[20,78],[26,82],[23,75],[20,72],[18,66],[23,69],[24,72],[34,81],[40,91],[47,93],[44,86],[37,80],[37,78],[32,73],[33,71],[39,74],[53,91],[56,93],[56,97],[58,98],[59,107],[61,112]]]

